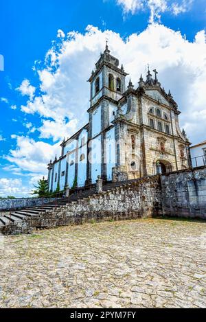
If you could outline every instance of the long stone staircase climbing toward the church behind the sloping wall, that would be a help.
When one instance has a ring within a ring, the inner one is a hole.
[[[142,179],[142,178],[141,178]],[[117,187],[122,187],[124,185],[130,185],[135,183],[141,179],[133,179],[128,181],[120,181],[120,182],[108,182],[103,185],[103,193],[111,192],[113,189]],[[21,225],[27,218],[36,218],[36,216],[47,213],[47,211],[51,211],[52,209],[58,209],[62,206],[68,205],[69,203],[76,203],[78,200],[88,198],[89,196],[97,196],[96,188],[92,187],[89,190],[82,190],[76,194],[72,194],[69,197],[62,197],[58,200],[54,200],[49,203],[44,203],[43,205],[38,205],[36,207],[28,207],[25,209],[20,209],[16,211],[11,211],[10,214],[5,214],[1,216],[0,213],[0,233],[10,234],[6,227],[13,225]]]

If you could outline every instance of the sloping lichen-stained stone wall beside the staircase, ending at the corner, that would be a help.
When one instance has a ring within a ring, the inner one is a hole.
[[[79,225],[92,220],[151,218],[159,214],[160,181],[159,176],[153,176],[16,222],[5,227],[3,233],[28,233],[35,228]]]

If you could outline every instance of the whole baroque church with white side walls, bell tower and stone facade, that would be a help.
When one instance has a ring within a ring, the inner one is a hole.
[[[179,127],[180,111],[165,93],[156,69],[137,89],[106,45],[89,78],[89,123],[61,143],[48,165],[49,191],[123,181],[188,168],[189,146]]]

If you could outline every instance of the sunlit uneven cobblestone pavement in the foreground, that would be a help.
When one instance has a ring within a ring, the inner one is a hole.
[[[132,220],[0,236],[1,308],[206,308],[206,223]]]

